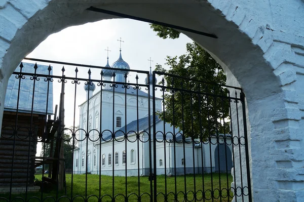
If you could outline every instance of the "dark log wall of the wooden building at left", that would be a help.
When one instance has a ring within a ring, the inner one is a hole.
[[[32,126],[30,126],[32,118]],[[0,141],[0,186],[32,186],[37,138],[44,131],[46,115],[4,111]],[[31,130],[30,130],[31,129]],[[13,166],[13,167],[12,167]],[[12,177],[12,179],[11,179]]]

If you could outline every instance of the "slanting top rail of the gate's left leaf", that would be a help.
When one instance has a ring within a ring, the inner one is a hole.
[[[55,61],[55,60],[44,60],[44,59],[37,59],[37,58],[24,58],[24,60],[31,60],[31,61],[37,61],[37,62],[46,62],[46,63],[55,63],[55,64],[62,64],[62,65],[71,65],[71,66],[79,66],[79,67],[88,67],[88,68],[97,68],[97,69],[111,69],[111,70],[120,70],[120,71],[132,71],[132,72],[137,72],[137,73],[149,74],[149,71],[144,71],[144,70],[120,69],[120,68],[103,67],[103,66],[96,66],[96,65],[87,65],[87,64],[70,63],[70,62],[61,62],[61,61]]]

